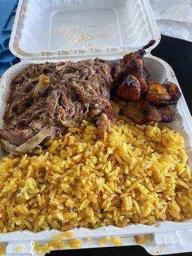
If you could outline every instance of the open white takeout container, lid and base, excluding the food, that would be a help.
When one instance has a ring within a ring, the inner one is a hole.
[[[161,36],[148,0],[20,0],[10,50],[21,62],[1,77],[0,127],[10,82],[29,63],[99,57],[108,60],[110,65],[113,60],[140,49],[151,39],[155,39],[156,44],[147,50],[144,64],[152,79],[159,83],[168,79],[179,86],[172,68],[150,54]],[[173,108],[176,121],[170,125],[184,136],[192,168],[192,122],[183,95]],[[74,228],[72,232],[77,239],[83,240],[82,248],[98,247],[99,239],[104,236],[119,236],[122,245],[134,245],[134,236],[154,234],[152,241],[143,244],[152,255],[192,251],[192,220],[180,223],[159,221],[151,226],[130,224],[125,228],[108,226],[96,230]],[[33,241],[49,241],[60,233],[58,230],[10,232],[0,234],[0,242],[7,245],[6,255],[36,255]],[[86,242],[86,237],[92,238],[91,243]],[[24,246],[20,253],[17,252],[19,245]]]

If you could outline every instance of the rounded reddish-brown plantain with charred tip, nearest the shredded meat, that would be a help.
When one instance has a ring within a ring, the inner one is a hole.
[[[132,75],[128,75],[125,81],[118,87],[116,96],[122,100],[136,101],[140,99],[141,85]]]

